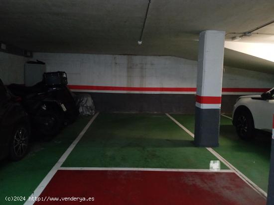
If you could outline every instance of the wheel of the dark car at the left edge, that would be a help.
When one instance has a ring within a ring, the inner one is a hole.
[[[29,148],[29,137],[28,126],[24,124],[15,126],[9,143],[9,158],[12,161],[18,161],[26,155]]]

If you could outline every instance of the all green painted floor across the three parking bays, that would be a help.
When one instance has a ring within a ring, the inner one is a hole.
[[[194,132],[194,115],[172,117]],[[90,119],[79,118],[51,141],[34,142],[19,162],[0,161],[0,205],[23,204],[4,197],[30,196]],[[220,147],[214,149],[267,191],[270,142],[264,135],[239,139],[231,120],[221,117]],[[101,113],[62,166],[208,169],[210,160],[217,159],[166,115]]]

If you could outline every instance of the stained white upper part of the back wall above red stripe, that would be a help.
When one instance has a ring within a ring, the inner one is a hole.
[[[34,53],[47,71],[66,71],[70,85],[196,87],[197,62],[176,57]],[[224,68],[225,88],[271,88],[274,75]]]

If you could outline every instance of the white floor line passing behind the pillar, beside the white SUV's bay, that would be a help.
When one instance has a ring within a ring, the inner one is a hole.
[[[169,117],[174,123],[176,123],[180,128],[182,128],[186,133],[188,133],[191,137],[194,138],[194,134],[187,130],[184,126],[182,126],[178,121],[176,121],[173,117],[171,117],[168,113],[166,113],[167,117]],[[257,193],[259,193],[263,198],[267,198],[267,193],[258,187],[254,182],[252,182],[247,176],[245,176],[242,172],[240,172],[236,167],[230,164],[225,158],[223,158],[220,154],[218,154],[211,147],[206,147],[208,151],[210,151],[214,156],[216,156],[220,161],[222,161],[227,167],[231,170],[234,170],[235,174],[237,174],[242,180],[244,180],[250,187],[252,187]]]

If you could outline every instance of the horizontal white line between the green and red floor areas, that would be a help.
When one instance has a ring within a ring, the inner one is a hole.
[[[165,169],[165,168],[127,168],[127,167],[60,167],[58,170],[91,170],[91,171],[159,171],[159,172],[234,172],[231,169],[210,171],[209,169]]]

